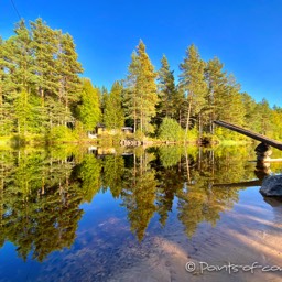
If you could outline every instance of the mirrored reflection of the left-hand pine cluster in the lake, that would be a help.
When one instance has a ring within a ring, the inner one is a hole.
[[[20,258],[37,261],[69,248],[83,214],[72,165],[44,151],[8,151],[0,160],[0,243],[11,241]]]

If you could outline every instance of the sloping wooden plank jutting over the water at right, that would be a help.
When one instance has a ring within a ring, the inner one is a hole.
[[[253,132],[251,130],[237,127],[232,123],[229,123],[229,122],[226,122],[226,121],[223,121],[223,120],[215,120],[214,123],[217,124],[217,126],[230,129],[232,131],[236,131],[236,132],[238,132],[240,134],[243,134],[246,137],[252,138],[254,140],[261,141],[261,142],[263,142],[265,144],[269,144],[273,148],[276,148],[279,150],[282,150],[282,142],[279,142],[279,141],[270,139],[270,138],[267,138],[267,137],[264,137],[262,134],[259,134],[257,132]]]

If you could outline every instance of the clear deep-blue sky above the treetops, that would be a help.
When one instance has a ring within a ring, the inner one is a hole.
[[[166,55],[175,75],[194,43],[207,61],[225,64],[257,101],[282,106],[282,0],[13,0],[25,20],[41,17],[70,33],[85,74],[110,87],[127,75],[142,39],[155,68]],[[0,35],[19,20],[11,0],[0,0]]]

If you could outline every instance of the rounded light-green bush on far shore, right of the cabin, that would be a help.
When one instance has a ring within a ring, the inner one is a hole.
[[[174,119],[164,118],[159,129],[159,138],[165,141],[182,141],[184,132]]]

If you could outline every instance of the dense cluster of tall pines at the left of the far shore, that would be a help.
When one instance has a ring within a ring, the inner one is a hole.
[[[14,35],[0,40],[0,134],[45,134],[74,121],[80,94],[75,44],[69,34],[41,19],[21,20]]]

